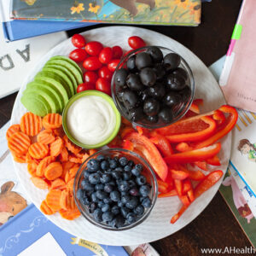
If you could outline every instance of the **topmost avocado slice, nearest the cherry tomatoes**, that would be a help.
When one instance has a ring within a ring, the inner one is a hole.
[[[59,56],[59,57],[62,57],[62,56]],[[70,60],[67,57],[65,57],[65,58],[62,57],[61,59],[53,57],[49,61],[46,62],[46,66],[48,64],[51,64],[51,65],[54,64],[54,65],[58,65],[58,66],[67,68],[71,73],[73,73],[73,76],[77,81],[77,84],[82,84],[83,83],[83,73],[81,71],[81,68],[77,65],[76,62],[74,62],[74,61],[70,62],[70,61],[72,61],[72,60]],[[74,66],[73,63],[76,66]],[[79,68],[79,70],[78,70],[78,68]]]

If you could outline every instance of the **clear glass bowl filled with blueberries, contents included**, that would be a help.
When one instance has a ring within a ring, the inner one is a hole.
[[[152,167],[122,148],[102,149],[80,166],[73,185],[84,218],[105,230],[129,230],[152,211],[158,185]]]

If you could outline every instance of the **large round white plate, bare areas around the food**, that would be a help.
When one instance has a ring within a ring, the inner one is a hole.
[[[137,35],[142,37],[148,45],[159,45],[172,49],[179,55],[183,56],[194,73],[195,98],[204,99],[205,104],[203,106],[203,112],[211,111],[225,103],[222,91],[208,68],[189,49],[185,48],[182,44],[177,43],[172,38],[168,38],[158,32],[152,32],[136,26],[105,26],[88,32],[83,32],[82,35],[86,38],[87,42],[97,40],[108,46],[120,45],[125,50],[130,49],[127,39],[131,36]],[[69,38],[57,45],[54,49],[51,49],[49,53],[44,55],[44,58],[38,62],[38,66],[29,73],[29,76],[21,85],[20,92],[15,101],[11,124],[19,124],[22,114],[26,113],[26,108],[24,108],[20,102],[20,97],[22,95],[22,91],[26,88],[26,84],[32,81],[35,74],[38,73],[38,71],[44,66],[44,63],[48,61],[51,56],[68,55],[73,49],[71,39]],[[230,149],[231,133],[222,140],[222,149],[219,153],[222,166],[218,166],[218,168],[215,169],[220,169],[223,172],[226,171],[230,160]],[[32,202],[39,208],[41,202],[45,199],[47,191],[37,189],[32,184],[30,176],[26,171],[26,164],[18,164],[14,162],[14,165],[15,172],[20,178],[20,183],[26,189],[27,195],[31,197]],[[143,222],[143,224],[139,224],[131,230],[102,230],[93,224],[90,224],[82,216],[73,221],[61,218],[59,213],[49,215],[47,218],[61,227],[61,229],[73,234],[73,236],[78,236],[85,240],[113,246],[141,244],[170,236],[177,230],[180,230],[189,224],[205,209],[205,207],[207,207],[209,202],[212,201],[212,198],[217,193],[221,182],[222,179],[196,199],[175,224],[170,224],[170,219],[182,206],[182,203],[178,200],[177,196],[158,199],[150,216]]]

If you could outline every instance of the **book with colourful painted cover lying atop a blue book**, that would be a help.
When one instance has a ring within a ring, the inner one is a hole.
[[[201,0],[13,0],[11,17],[197,26]]]

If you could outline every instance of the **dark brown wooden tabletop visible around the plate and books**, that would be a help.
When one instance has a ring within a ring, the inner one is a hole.
[[[176,39],[209,66],[226,53],[240,7],[241,0],[212,0],[212,3],[202,4],[201,25],[198,27],[142,27]],[[107,25],[93,27],[98,26]],[[68,35],[85,30],[73,30]],[[0,100],[0,126],[10,119],[15,96],[13,94]],[[191,224],[172,236],[152,242],[152,245],[160,255],[201,255],[200,249],[205,247],[251,246],[219,193]]]

